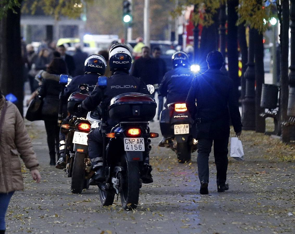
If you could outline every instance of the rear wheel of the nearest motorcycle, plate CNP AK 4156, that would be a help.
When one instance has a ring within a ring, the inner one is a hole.
[[[120,192],[121,203],[124,210],[134,210],[137,208],[140,189],[140,173],[138,162],[128,162],[125,159],[126,173],[124,175],[124,184]]]

